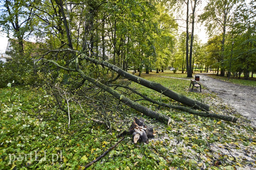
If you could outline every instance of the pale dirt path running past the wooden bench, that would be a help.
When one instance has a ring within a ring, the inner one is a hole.
[[[232,84],[211,78],[207,74],[200,76],[200,84],[209,91],[217,93],[225,103],[236,109],[238,113],[251,120],[256,127],[256,88]]]

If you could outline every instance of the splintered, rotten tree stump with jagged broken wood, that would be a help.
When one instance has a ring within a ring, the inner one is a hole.
[[[132,134],[133,142],[136,144],[139,140],[148,144],[148,138],[155,136],[152,127],[147,127],[144,119],[134,117],[132,125],[130,126],[129,133]]]

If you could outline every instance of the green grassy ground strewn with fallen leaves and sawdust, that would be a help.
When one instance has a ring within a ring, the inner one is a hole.
[[[109,107],[104,108],[101,101],[92,100],[90,96],[84,98],[87,107],[79,107],[85,103],[72,98],[68,105],[72,119],[68,125],[67,114],[58,108],[48,90],[29,86],[4,88],[0,91],[0,169],[85,169],[83,166],[120,140],[118,134],[129,129],[135,116],[143,117],[145,124],[153,127],[155,138],[150,138],[148,144],[133,144],[132,136],[127,135],[87,169],[256,169],[256,131],[243,116],[214,93],[189,92],[187,80],[152,74],[142,74],[142,77],[202,100],[210,105],[210,112],[233,115],[239,117],[239,121],[230,123],[199,117],[138,100],[171,117],[167,126],[122,103],[118,107],[112,106],[114,99],[99,92]],[[186,75],[179,74],[178,77],[185,78]],[[178,104],[153,90],[137,84],[132,86],[144,95],[154,96],[155,100]],[[139,99],[130,95],[134,100]],[[67,107],[65,100],[60,103]],[[95,122],[100,117],[111,119],[113,131]]]

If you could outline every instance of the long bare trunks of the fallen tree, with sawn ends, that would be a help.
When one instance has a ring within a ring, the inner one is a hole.
[[[96,80],[96,79],[94,79],[94,78],[92,78],[90,76],[87,76],[86,74],[84,74],[84,72],[79,67],[79,59],[81,59],[81,60],[88,59],[90,62],[96,61],[96,62],[93,62],[93,63],[101,63],[101,64],[104,63],[104,65],[106,65],[110,69],[112,69],[112,70],[116,71],[117,73],[120,73],[124,77],[128,78],[128,80],[132,80],[132,81],[134,81],[136,83],[144,85],[145,87],[147,87],[147,86],[151,87],[150,89],[154,89],[155,91],[159,92],[159,89],[157,89],[157,87],[160,87],[160,89],[165,89],[165,91],[161,91],[162,94],[165,94],[165,96],[168,96],[170,98],[172,98],[171,94],[173,94],[175,96],[174,99],[176,99],[176,101],[177,101],[177,98],[178,98],[178,101],[182,102],[183,104],[187,103],[187,105],[190,106],[190,108],[183,107],[183,106],[177,106],[177,105],[168,105],[166,103],[158,102],[158,101],[155,101],[155,100],[153,100],[153,99],[151,99],[151,98],[149,98],[147,96],[144,96],[144,95],[142,95],[140,93],[137,93],[136,91],[132,90],[132,88],[128,88],[131,91],[133,91],[134,93],[136,93],[136,94],[140,95],[141,97],[143,97],[143,99],[148,100],[149,102],[158,104],[160,106],[172,108],[172,109],[183,110],[183,111],[186,111],[188,113],[191,113],[191,114],[194,114],[194,115],[203,116],[203,117],[213,117],[213,118],[218,118],[218,119],[222,119],[222,120],[230,121],[230,122],[236,122],[237,121],[236,117],[230,117],[230,116],[225,116],[225,115],[220,115],[220,114],[209,113],[208,112],[209,105],[201,103],[201,102],[196,101],[196,100],[193,100],[193,99],[191,99],[189,97],[177,94],[177,93],[173,92],[172,90],[167,89],[166,87],[162,86],[160,83],[155,83],[155,82],[152,82],[152,81],[148,81],[148,80],[142,79],[140,77],[135,79],[137,76],[132,75],[132,74],[127,73],[127,72],[124,73],[124,71],[121,68],[116,67],[116,66],[114,66],[114,65],[112,65],[112,64],[110,64],[110,63],[108,63],[106,61],[100,61],[100,60],[95,60],[95,59],[92,60],[92,58],[87,57],[85,54],[82,55],[83,58],[81,58],[80,56],[83,53],[78,53],[77,51],[74,51],[74,50],[71,50],[71,49],[53,50],[52,52],[56,52],[56,51],[57,52],[63,52],[63,51],[76,52],[76,58],[75,58],[75,60],[73,60],[73,61],[75,61],[75,68],[76,69],[71,69],[71,68],[60,66],[57,62],[52,61],[52,60],[46,60],[46,59],[43,59],[43,60],[51,62],[55,66],[57,66],[57,67],[59,67],[61,69],[64,69],[66,71],[78,72],[79,75],[83,78],[83,82],[85,80],[87,80],[87,81],[93,83],[94,85],[98,86],[99,88],[107,91],[109,94],[114,96],[120,102],[122,102],[122,103],[128,105],[129,107],[133,108],[134,110],[137,110],[140,113],[142,113],[142,114],[144,114],[144,115],[146,115],[148,117],[151,117],[153,119],[156,119],[156,120],[158,120],[158,121],[160,121],[160,122],[162,122],[164,124],[169,125],[170,120],[171,120],[170,117],[168,117],[166,115],[163,115],[163,114],[160,114],[160,113],[157,113],[156,111],[150,110],[147,107],[142,106],[139,103],[132,101],[131,99],[127,98],[126,96],[118,93],[116,90],[110,88],[109,86],[111,86],[111,85],[108,85],[108,82],[106,83],[107,84],[106,85],[106,84],[103,84],[100,81],[98,81],[98,80]],[[114,81],[118,79],[120,74],[118,74],[117,78],[115,78]],[[119,86],[122,87],[122,85],[119,85]],[[181,99],[183,99],[183,100],[181,100]],[[193,104],[191,104],[190,102],[193,103]],[[200,112],[200,111],[194,110],[193,108],[201,109],[203,111]]]

